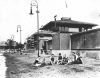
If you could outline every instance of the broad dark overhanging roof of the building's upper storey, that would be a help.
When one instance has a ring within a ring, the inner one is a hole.
[[[40,28],[40,30],[46,30],[51,27],[55,26],[55,21],[50,21],[44,27]],[[92,28],[94,26],[97,26],[97,24],[93,23],[87,23],[87,22],[80,22],[75,20],[57,20],[56,26],[66,26],[71,28]]]

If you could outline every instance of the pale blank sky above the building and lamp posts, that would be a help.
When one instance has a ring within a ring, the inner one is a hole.
[[[0,0],[0,41],[7,41],[14,35],[14,40],[20,42],[18,25],[22,30],[22,43],[37,31],[35,6],[32,9],[34,15],[29,15],[31,2],[34,3],[34,0]],[[37,2],[40,11],[39,27],[53,21],[55,15],[57,20],[61,17],[71,17],[72,20],[98,24],[96,28],[100,26],[100,0],[37,0]]]

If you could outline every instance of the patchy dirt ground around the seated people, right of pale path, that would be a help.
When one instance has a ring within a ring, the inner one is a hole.
[[[33,66],[37,55],[27,53],[5,53],[7,78],[99,78],[100,60],[82,58],[83,64],[74,65],[46,65],[41,67]],[[49,55],[41,55],[41,60],[46,58],[49,61]]]

